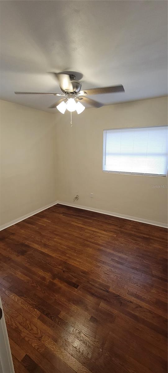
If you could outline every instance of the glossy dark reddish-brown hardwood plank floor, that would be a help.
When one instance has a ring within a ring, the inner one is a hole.
[[[0,232],[15,373],[167,373],[167,229],[56,205]]]

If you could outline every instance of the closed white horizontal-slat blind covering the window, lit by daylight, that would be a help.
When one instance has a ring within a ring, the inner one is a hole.
[[[168,127],[105,129],[103,171],[166,176]]]

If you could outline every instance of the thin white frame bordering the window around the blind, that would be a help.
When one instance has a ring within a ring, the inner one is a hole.
[[[117,130],[117,129],[133,129],[133,128],[137,128],[137,129],[141,129],[141,128],[154,128],[154,127],[167,127],[168,128],[168,125],[167,124],[164,124],[164,125],[151,125],[151,126],[143,126],[143,127],[117,127],[117,128],[105,128],[103,129],[103,162],[102,162],[102,171],[105,172],[105,173],[116,173],[116,174],[121,174],[121,175],[133,175],[133,176],[150,176],[150,177],[160,177],[160,178],[166,178],[167,175],[168,175],[168,169],[167,169],[167,174],[166,175],[161,175],[161,174],[152,174],[152,173],[139,173],[139,172],[123,172],[123,171],[108,171],[108,170],[103,170],[103,166],[105,165],[104,163],[104,160],[105,160],[105,149],[104,149],[104,131],[113,131],[113,130]],[[105,147],[106,148],[106,147]]]

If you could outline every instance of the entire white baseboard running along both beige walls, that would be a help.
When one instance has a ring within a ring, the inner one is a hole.
[[[55,201],[53,203],[50,203],[47,206],[41,207],[40,209],[34,210],[34,211],[32,211],[32,212],[24,215],[24,216],[21,216],[21,217],[15,219],[15,220],[12,220],[9,223],[1,225],[0,226],[0,231],[2,231],[5,228],[10,227],[11,225],[19,223],[22,220],[27,219],[28,217],[30,217],[32,215],[38,214],[39,212],[41,212],[43,210],[49,209],[49,207],[52,207],[52,206],[54,206],[56,204],[70,206],[70,207],[75,207],[76,209],[83,209],[83,210],[88,210],[88,211],[94,211],[94,212],[98,212],[100,214],[106,214],[106,215],[121,217],[121,219],[134,220],[135,222],[140,222],[140,223],[145,223],[145,224],[150,224],[150,225],[156,225],[158,227],[168,228],[168,225],[166,223],[156,222],[154,220],[143,219],[143,218],[140,218],[140,217],[130,216],[130,215],[123,215],[123,214],[114,213],[112,211],[107,211],[107,210],[99,210],[99,209],[95,209],[94,207],[76,205],[74,203],[69,203],[69,202]]]

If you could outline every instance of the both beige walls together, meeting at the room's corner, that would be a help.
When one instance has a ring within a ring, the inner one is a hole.
[[[165,125],[167,98],[50,114],[1,101],[0,225],[56,200],[167,222],[167,178],[102,172],[103,129]],[[94,198],[90,198],[90,193]]]

